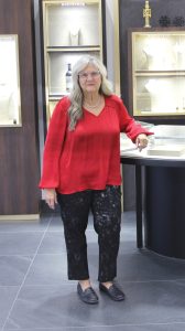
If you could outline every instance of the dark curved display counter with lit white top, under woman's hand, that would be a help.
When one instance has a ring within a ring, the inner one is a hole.
[[[185,258],[185,126],[151,131],[141,152],[121,136],[121,163],[135,166],[138,247]]]

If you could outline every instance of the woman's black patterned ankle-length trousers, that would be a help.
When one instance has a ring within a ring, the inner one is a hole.
[[[87,190],[73,194],[58,194],[67,249],[68,279],[88,279],[86,227],[89,211],[98,234],[99,281],[117,276],[117,257],[120,243],[121,194],[120,186],[106,190]]]

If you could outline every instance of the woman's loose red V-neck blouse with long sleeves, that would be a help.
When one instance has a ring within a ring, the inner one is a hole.
[[[149,134],[128,114],[122,100],[112,95],[96,116],[84,109],[75,130],[69,131],[67,109],[62,98],[53,113],[43,156],[41,189],[69,194],[84,190],[104,190],[120,185],[120,131],[134,142],[139,134]]]

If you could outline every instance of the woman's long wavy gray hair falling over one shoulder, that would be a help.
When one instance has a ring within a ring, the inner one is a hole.
[[[84,95],[79,85],[78,75],[88,65],[91,64],[100,72],[101,85],[99,93],[105,96],[112,94],[111,83],[107,78],[107,70],[105,65],[95,56],[85,55],[81,56],[73,66],[73,89],[69,95],[70,107],[68,109],[69,115],[69,130],[74,130],[77,121],[83,117],[83,100]]]

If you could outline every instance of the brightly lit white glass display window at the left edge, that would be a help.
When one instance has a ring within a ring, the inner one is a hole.
[[[0,126],[21,126],[18,36],[0,35]]]

